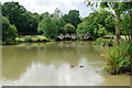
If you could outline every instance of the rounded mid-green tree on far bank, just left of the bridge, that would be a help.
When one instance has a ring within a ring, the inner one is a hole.
[[[47,38],[56,38],[58,35],[56,19],[44,18],[40,23],[37,31],[44,33]]]

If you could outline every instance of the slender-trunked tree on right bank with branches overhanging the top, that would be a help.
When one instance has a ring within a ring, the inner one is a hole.
[[[123,0],[122,0],[123,1]],[[90,2],[90,0],[86,0],[88,6],[96,4],[97,7],[112,9],[116,15],[116,43],[120,43],[120,24],[121,24],[121,14],[123,11],[128,11],[132,9],[132,2]]]

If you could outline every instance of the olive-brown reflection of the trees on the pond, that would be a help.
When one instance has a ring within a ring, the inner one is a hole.
[[[81,57],[85,57],[89,63],[100,59],[98,52],[90,44],[81,44],[81,42],[75,42],[74,46],[73,42],[9,45],[2,47],[2,56],[3,77],[11,80],[19,79],[26,72],[26,67],[31,66],[32,62],[41,62],[43,65],[54,63],[58,67],[62,63],[78,65]]]

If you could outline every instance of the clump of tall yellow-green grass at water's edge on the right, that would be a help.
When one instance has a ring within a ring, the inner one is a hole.
[[[105,54],[107,65],[105,70],[111,75],[117,75],[123,72],[131,72],[132,64],[132,44],[121,41],[120,44],[114,44],[112,48],[108,48]]]

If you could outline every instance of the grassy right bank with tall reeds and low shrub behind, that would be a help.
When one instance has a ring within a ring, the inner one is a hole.
[[[107,52],[102,54],[105,58],[105,70],[110,75],[131,73],[132,65],[132,43],[124,38],[120,44],[116,44],[113,38],[99,37],[94,42],[96,46],[107,46]]]

